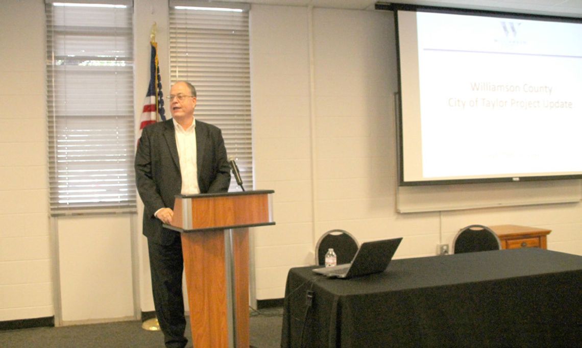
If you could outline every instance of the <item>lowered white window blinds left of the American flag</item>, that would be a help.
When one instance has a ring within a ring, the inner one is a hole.
[[[74,2],[45,5],[51,214],[134,211],[132,3]]]

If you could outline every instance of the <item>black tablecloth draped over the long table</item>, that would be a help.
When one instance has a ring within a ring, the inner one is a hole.
[[[289,271],[282,347],[582,346],[582,257],[538,248]],[[307,292],[313,292],[307,306]]]

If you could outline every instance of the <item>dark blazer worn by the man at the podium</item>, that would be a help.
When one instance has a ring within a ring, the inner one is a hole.
[[[226,192],[230,166],[221,130],[196,120],[196,162],[200,193]],[[172,119],[143,129],[136,152],[137,191],[144,203],[143,234],[158,244],[168,245],[176,233],[162,228],[154,216],[160,208],[174,207],[182,190],[180,160]]]

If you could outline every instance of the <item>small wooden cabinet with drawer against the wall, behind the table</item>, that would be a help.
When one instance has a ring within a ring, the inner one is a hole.
[[[519,225],[489,226],[501,240],[501,248],[548,248],[547,236],[552,230]]]

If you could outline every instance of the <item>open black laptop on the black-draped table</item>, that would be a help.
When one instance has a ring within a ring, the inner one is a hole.
[[[401,241],[402,237],[362,243],[352,263],[334,267],[315,268],[313,271],[336,278],[353,278],[384,272]]]

